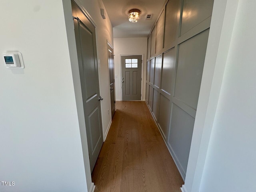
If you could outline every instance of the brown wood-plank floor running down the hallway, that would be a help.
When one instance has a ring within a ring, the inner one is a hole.
[[[116,106],[92,172],[95,192],[181,192],[184,182],[146,103]]]

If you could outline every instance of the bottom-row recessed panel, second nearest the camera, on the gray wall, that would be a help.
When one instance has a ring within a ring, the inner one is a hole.
[[[169,122],[170,122],[170,100],[160,94],[160,105],[159,105],[159,125],[162,130],[162,134],[165,138],[168,135]]]

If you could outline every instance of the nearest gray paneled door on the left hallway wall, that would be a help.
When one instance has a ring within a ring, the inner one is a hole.
[[[91,172],[103,144],[95,28],[72,2]]]

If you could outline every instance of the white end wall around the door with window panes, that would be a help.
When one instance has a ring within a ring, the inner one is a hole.
[[[116,86],[116,100],[122,100],[121,96],[121,63],[120,54],[142,55],[143,60],[143,78],[142,78],[142,100],[145,100],[146,95],[146,62],[147,62],[147,38],[114,38],[114,66],[115,66],[115,86]]]

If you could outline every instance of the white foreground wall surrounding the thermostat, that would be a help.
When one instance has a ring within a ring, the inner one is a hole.
[[[62,0],[0,2],[0,191],[87,191]]]

